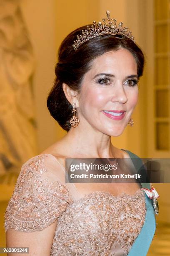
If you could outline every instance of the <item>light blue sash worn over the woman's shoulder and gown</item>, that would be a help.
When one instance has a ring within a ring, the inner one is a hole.
[[[123,149],[124,150],[124,149]],[[132,152],[125,150],[133,161],[133,158],[139,158],[137,155]],[[141,161],[141,162],[140,162]],[[139,166],[135,166],[138,169],[143,165],[142,160],[139,161]],[[134,164],[136,162],[133,162]],[[149,183],[141,183],[142,187],[150,189]],[[155,210],[153,208],[152,200],[145,194],[145,205],[146,205],[146,216],[143,228],[140,231],[140,234],[136,238],[133,246],[131,247],[128,256],[146,256],[150,248],[150,244],[153,240],[153,236],[156,230],[156,219],[155,219]]]

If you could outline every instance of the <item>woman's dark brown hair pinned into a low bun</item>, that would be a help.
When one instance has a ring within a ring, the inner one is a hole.
[[[81,33],[82,29],[86,29],[86,27],[77,28],[62,41],[58,51],[58,63],[55,67],[56,78],[47,97],[47,108],[50,114],[66,131],[71,128],[72,105],[65,97],[62,83],[80,92],[81,81],[96,57],[108,51],[117,51],[120,48],[125,48],[133,54],[136,60],[138,77],[143,74],[143,52],[129,38],[119,38],[109,34],[97,36],[84,42],[75,51],[72,46],[73,41]]]

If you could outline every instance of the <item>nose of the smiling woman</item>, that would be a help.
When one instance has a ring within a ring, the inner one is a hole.
[[[112,93],[111,93],[111,101],[112,102],[121,102],[121,103],[126,103],[128,100],[126,92],[124,90],[123,84],[116,84],[114,88],[112,88]]]

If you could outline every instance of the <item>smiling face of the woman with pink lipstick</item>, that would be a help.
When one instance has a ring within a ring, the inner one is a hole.
[[[90,124],[104,134],[120,136],[137,102],[137,63],[130,51],[121,48],[92,62],[82,80],[77,113],[84,128]]]

